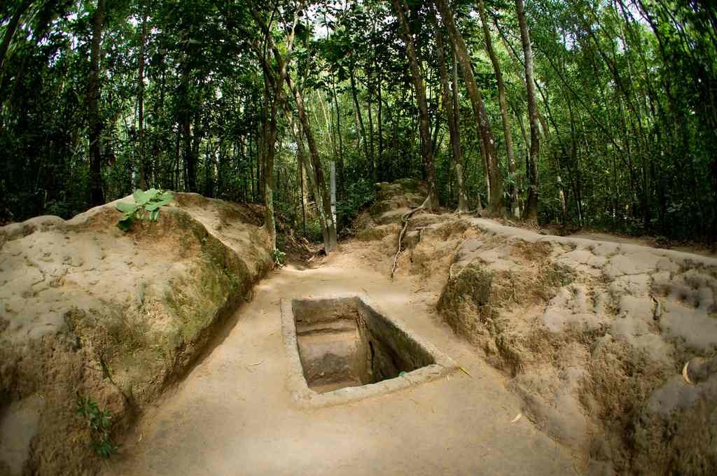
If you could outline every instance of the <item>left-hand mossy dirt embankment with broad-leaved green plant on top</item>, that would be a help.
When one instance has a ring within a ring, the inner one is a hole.
[[[272,264],[250,206],[176,194],[156,223],[125,233],[119,216],[107,204],[0,228],[1,475],[91,472],[77,402],[121,432]]]

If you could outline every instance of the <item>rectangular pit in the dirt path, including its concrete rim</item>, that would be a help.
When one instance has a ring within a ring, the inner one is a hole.
[[[282,300],[295,400],[337,404],[435,379],[455,363],[356,296]]]

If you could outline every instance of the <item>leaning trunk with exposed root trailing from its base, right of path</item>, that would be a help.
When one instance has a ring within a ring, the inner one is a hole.
[[[438,194],[436,190],[436,169],[433,162],[433,146],[431,143],[431,129],[428,119],[428,103],[426,100],[426,85],[419,67],[416,49],[413,44],[413,37],[409,29],[406,15],[404,14],[405,1],[403,5],[399,3],[401,0],[391,0],[396,15],[399,19],[401,37],[406,44],[406,52],[408,54],[409,68],[411,70],[411,79],[413,81],[414,91],[416,93],[416,103],[419,115],[419,133],[421,135],[421,155],[426,170],[426,178],[428,181],[428,196],[424,201],[424,208],[435,209],[438,206]]]

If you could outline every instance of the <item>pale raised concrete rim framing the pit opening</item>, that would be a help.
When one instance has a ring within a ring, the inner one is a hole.
[[[372,308],[376,313],[383,315],[390,320],[400,331],[409,335],[419,346],[422,346],[435,360],[435,363],[429,366],[418,368],[417,370],[406,373],[404,376],[395,379],[384,380],[376,384],[367,384],[357,387],[346,387],[334,391],[319,394],[308,387],[306,379],[304,379],[303,368],[299,358],[298,342],[296,338],[296,326],[294,323],[294,315],[292,310],[292,299],[281,300],[281,328],[286,348],[287,357],[289,359],[289,377],[288,387],[291,392],[292,399],[297,406],[301,408],[319,408],[322,406],[333,406],[347,404],[352,401],[367,399],[372,396],[389,394],[394,391],[407,389],[409,386],[423,384],[425,382],[440,379],[447,376],[458,369],[457,364],[452,358],[442,353],[437,348],[427,343],[419,336],[409,330],[404,323],[395,318],[389,317],[383,310],[377,308],[376,305],[365,295],[346,294],[346,295],[326,295],[315,298],[298,298],[301,300],[323,301],[330,299],[346,299],[358,298],[363,301],[364,305]]]

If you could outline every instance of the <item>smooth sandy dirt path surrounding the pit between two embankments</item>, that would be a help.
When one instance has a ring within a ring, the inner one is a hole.
[[[354,249],[275,272],[176,391],[149,411],[105,475],[574,474],[567,449],[525,417],[505,378],[437,322],[437,290],[390,282]],[[416,292],[419,290],[419,292]],[[280,298],[369,295],[470,372],[352,404],[298,409],[287,389]]]

